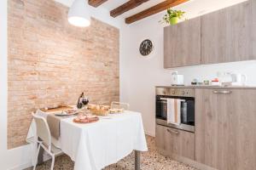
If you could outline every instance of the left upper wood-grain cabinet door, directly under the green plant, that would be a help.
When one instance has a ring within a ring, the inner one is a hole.
[[[164,67],[201,64],[201,18],[164,29]]]

